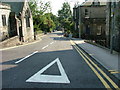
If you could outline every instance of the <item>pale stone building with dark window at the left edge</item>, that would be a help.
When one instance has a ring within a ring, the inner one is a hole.
[[[10,5],[0,3],[0,41],[9,37]]]

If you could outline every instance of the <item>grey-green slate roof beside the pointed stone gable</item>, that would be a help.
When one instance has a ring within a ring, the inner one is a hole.
[[[19,12],[22,11],[24,2],[4,2],[11,6],[11,11],[15,12],[16,15],[19,15]]]

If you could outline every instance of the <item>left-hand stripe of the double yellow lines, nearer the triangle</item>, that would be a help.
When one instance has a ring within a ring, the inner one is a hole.
[[[72,45],[75,45],[73,42],[71,42]],[[103,85],[108,88],[109,90],[112,90],[110,86],[107,84],[107,82],[102,78],[102,76],[95,70],[95,68],[88,62],[88,60],[81,54],[81,52],[77,49],[76,46],[74,46],[75,49],[78,51],[78,53],[82,56],[82,58],[85,60],[85,62],[88,64],[88,66],[93,70],[93,72],[97,75],[97,77],[100,79],[100,81],[103,83]]]

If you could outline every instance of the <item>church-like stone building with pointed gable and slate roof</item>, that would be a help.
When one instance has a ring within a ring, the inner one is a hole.
[[[18,35],[19,40],[23,42],[34,40],[33,18],[27,0],[3,3],[11,6],[9,37]]]

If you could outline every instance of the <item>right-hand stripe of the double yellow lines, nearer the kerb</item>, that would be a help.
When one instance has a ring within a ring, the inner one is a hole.
[[[119,87],[112,81],[112,79],[108,77],[86,54],[84,54],[83,51],[81,51],[78,47],[77,49],[103,74],[103,76],[113,85],[114,88],[119,89]]]

